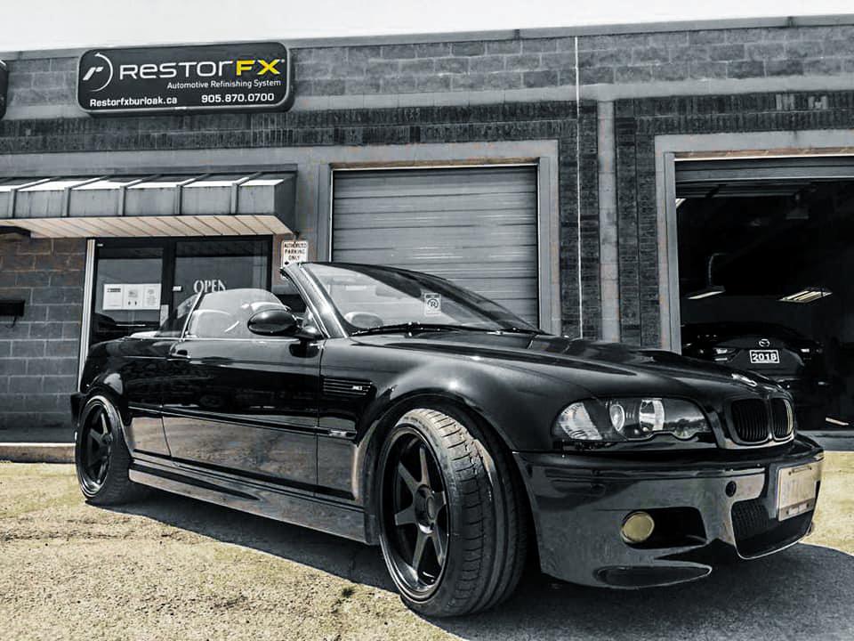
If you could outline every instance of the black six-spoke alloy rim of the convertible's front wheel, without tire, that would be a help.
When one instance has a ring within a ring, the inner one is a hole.
[[[385,469],[383,523],[391,560],[409,591],[430,596],[445,568],[448,546],[447,499],[439,465],[423,436],[404,429],[395,434]]]

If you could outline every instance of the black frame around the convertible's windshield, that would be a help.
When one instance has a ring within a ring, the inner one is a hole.
[[[477,331],[495,332],[495,333],[501,333],[501,332],[530,333],[531,335],[545,334],[546,333],[543,331],[543,329],[540,329],[535,324],[530,323],[528,321],[525,321],[524,319],[521,319],[516,314],[514,314],[513,312],[511,312],[510,310],[505,308],[504,305],[495,303],[495,301],[488,299],[486,296],[481,296],[481,295],[477,294],[476,292],[471,291],[470,289],[462,288],[458,285],[455,285],[450,280],[441,278],[439,276],[434,276],[433,274],[429,274],[429,273],[425,273],[425,272],[415,272],[413,270],[401,269],[399,267],[389,267],[386,265],[335,263],[335,262],[321,262],[321,261],[312,262],[312,263],[301,263],[299,266],[300,266],[300,271],[302,272],[302,275],[304,276],[304,278],[306,278],[307,280],[310,281],[314,290],[318,293],[318,296],[322,296],[323,299],[326,301],[329,315],[331,315],[333,317],[335,324],[342,330],[342,334],[346,337],[364,336],[367,334],[378,334],[378,333],[382,333],[382,328],[375,328],[375,331],[366,332],[366,331],[364,331],[366,328],[360,328],[360,327],[358,327],[356,325],[352,325],[350,322],[348,322],[344,318],[341,310],[339,310],[338,305],[335,304],[333,297],[326,290],[326,287],[324,287],[324,285],[321,282],[321,280],[319,279],[318,275],[316,273],[312,272],[312,268],[316,265],[327,266],[327,267],[335,267],[338,269],[350,270],[352,272],[358,272],[358,273],[363,273],[363,274],[365,273],[365,272],[363,272],[363,270],[380,270],[380,271],[384,271],[384,272],[391,272],[391,273],[400,274],[400,275],[404,275],[404,276],[414,277],[417,280],[432,280],[432,281],[436,282],[437,284],[439,284],[440,288],[447,288],[447,289],[450,289],[453,291],[461,292],[466,297],[466,300],[464,300],[465,306],[472,307],[472,308],[476,309],[478,311],[479,315],[483,316],[485,320],[491,321],[491,322],[495,323],[495,325],[496,325],[495,329],[483,328],[483,329],[477,329]],[[369,276],[369,274],[365,274],[365,275]],[[467,300],[467,298],[469,296],[476,296],[476,297],[484,298],[485,300],[488,300],[491,304],[494,304],[495,307],[497,307],[498,309],[500,309],[504,313],[506,313],[510,318],[518,321],[518,323],[509,323],[509,322],[507,322],[507,319],[495,319],[495,318],[493,318],[491,316],[490,312],[487,312],[486,310],[481,309],[473,301]],[[418,321],[413,321],[411,323],[403,323],[403,324],[411,324],[413,326],[412,331],[417,332],[417,331],[419,331],[417,329],[419,324],[423,324],[423,323],[419,323]],[[427,323],[427,324],[430,324],[430,323]],[[445,323],[445,324],[452,325],[454,323]],[[459,323],[460,329],[461,330],[467,329],[465,326],[468,324],[470,324],[470,323],[463,323],[463,322]],[[390,327],[392,327],[392,326],[398,327],[400,325],[400,323],[388,323],[388,325]],[[474,329],[471,329],[471,330],[473,331]],[[449,329],[449,331],[451,331],[451,330]],[[407,332],[407,329],[390,329],[389,333],[406,333],[406,332]]]

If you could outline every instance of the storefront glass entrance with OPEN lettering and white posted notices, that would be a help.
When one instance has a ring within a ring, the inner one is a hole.
[[[89,345],[157,329],[190,296],[269,288],[269,236],[97,243]]]

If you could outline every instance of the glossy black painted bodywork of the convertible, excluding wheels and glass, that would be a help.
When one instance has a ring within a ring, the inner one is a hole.
[[[544,570],[616,585],[624,581],[614,579],[624,572],[618,567],[688,568],[673,571],[674,580],[705,575],[707,564],[670,557],[721,546],[737,551],[733,503],[771,501],[779,465],[822,457],[800,437],[750,448],[730,438],[729,400],[786,396],[767,378],[566,337],[350,337],[300,264],[286,275],[317,321],[299,337],[130,337],[93,348],[72,405],[79,409],[96,393],[117,403],[133,480],[376,542],[374,467],[384,430],[413,407],[451,405],[495,430],[516,457]],[[569,403],[610,396],[689,399],[712,434],[593,450],[552,436]],[[740,489],[728,496],[732,480]],[[627,510],[671,507],[699,510],[706,540],[664,551],[620,540],[616,522]]]

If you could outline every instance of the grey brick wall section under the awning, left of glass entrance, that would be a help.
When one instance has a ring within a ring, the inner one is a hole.
[[[70,425],[84,266],[85,240],[0,242],[0,298],[26,301],[14,327],[0,318],[0,430]]]

